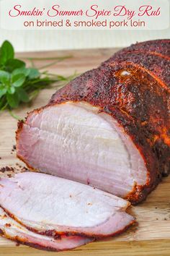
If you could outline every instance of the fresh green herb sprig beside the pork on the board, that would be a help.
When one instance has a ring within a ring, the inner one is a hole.
[[[60,58],[58,58],[60,59]],[[62,59],[62,58],[61,58]],[[66,59],[63,57],[63,59]],[[40,72],[35,67],[27,68],[24,61],[14,58],[14,48],[4,41],[0,48],[0,111],[18,108],[21,103],[29,103],[40,90],[53,82],[68,81],[61,75]]]

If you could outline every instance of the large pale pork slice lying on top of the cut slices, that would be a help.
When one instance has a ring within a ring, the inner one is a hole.
[[[0,205],[9,216],[40,234],[112,236],[134,222],[125,212],[129,206],[125,200],[84,184],[33,172],[1,179]]]

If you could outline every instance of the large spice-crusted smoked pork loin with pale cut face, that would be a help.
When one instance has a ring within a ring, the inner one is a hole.
[[[17,130],[32,170],[137,203],[170,171],[170,40],[125,48],[58,90]]]

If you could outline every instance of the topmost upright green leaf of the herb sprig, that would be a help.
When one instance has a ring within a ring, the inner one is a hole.
[[[14,59],[14,48],[9,41],[4,41],[0,51],[0,64],[6,64],[9,59]]]

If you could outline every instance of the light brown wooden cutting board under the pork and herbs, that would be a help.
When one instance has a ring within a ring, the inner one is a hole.
[[[47,67],[49,72],[71,75],[75,71],[77,74],[88,69],[97,67],[102,61],[109,58],[117,49],[98,49],[83,51],[52,51],[41,53],[18,54],[19,58],[34,57],[58,57],[69,56],[72,58],[53,64]],[[55,60],[53,60],[55,61]],[[48,65],[51,60],[35,61],[36,67]],[[29,61],[27,61],[29,64]],[[27,111],[45,105],[56,88],[43,90],[32,106],[22,106],[14,111],[18,116],[24,117]],[[16,153],[12,151],[15,145],[15,131],[17,121],[7,112],[0,114],[0,168],[12,166],[18,171],[23,166],[22,162],[16,158]],[[4,174],[1,174],[1,176]],[[94,242],[84,247],[70,252],[44,252],[22,245],[17,246],[0,237],[0,256],[52,256],[52,255],[72,255],[72,256],[139,256],[139,255],[170,255],[170,177],[165,178],[161,184],[148,196],[146,202],[132,207],[130,213],[138,220],[138,225],[133,226],[124,234],[101,242]]]

